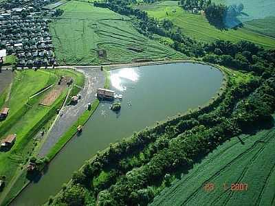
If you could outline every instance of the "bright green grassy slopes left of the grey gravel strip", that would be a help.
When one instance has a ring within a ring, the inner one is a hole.
[[[8,151],[0,152],[0,175],[5,176],[5,190],[1,192],[0,201],[2,204],[8,203],[10,194],[17,194],[23,185],[17,184],[18,176],[25,174],[26,165],[35,150],[39,146],[42,133],[48,128],[45,126],[53,117],[56,111],[61,108],[69,87],[65,88],[54,102],[49,106],[41,105],[41,101],[55,88],[61,76],[71,76],[76,82],[81,82],[83,75],[76,71],[61,70],[22,70],[14,71],[15,77],[12,89],[7,101],[3,106],[9,107],[8,117],[0,122],[0,137],[3,139],[7,135],[17,134],[15,144]],[[53,85],[52,87],[50,87]],[[50,89],[46,89],[50,87]],[[21,178],[19,178],[21,179]],[[13,185],[18,187],[12,187]],[[10,192],[8,194],[8,192]],[[8,196],[6,196],[8,194]],[[5,200],[4,200],[5,198]],[[3,202],[2,202],[3,201]]]

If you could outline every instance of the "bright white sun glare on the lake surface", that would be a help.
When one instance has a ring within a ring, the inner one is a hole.
[[[123,79],[137,82],[140,77],[137,72],[137,69],[134,68],[124,68],[118,71],[112,71],[110,76],[112,86],[119,91],[125,91],[126,86],[123,85]]]

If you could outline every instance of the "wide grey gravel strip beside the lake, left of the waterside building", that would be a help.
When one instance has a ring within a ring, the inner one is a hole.
[[[58,115],[54,125],[50,131],[45,135],[47,139],[43,142],[39,157],[45,157],[47,152],[57,143],[58,139],[72,126],[78,117],[87,109],[87,104],[96,99],[96,90],[104,87],[104,73],[98,67],[76,67],[77,71],[84,73],[85,86],[81,93],[81,99],[76,105],[64,106],[62,117]]]

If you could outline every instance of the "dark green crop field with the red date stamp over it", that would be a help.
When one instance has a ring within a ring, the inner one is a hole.
[[[274,205],[274,147],[275,128],[234,137],[166,187],[151,205]],[[207,183],[214,190],[204,190]],[[248,184],[248,190],[232,191],[232,183]]]

